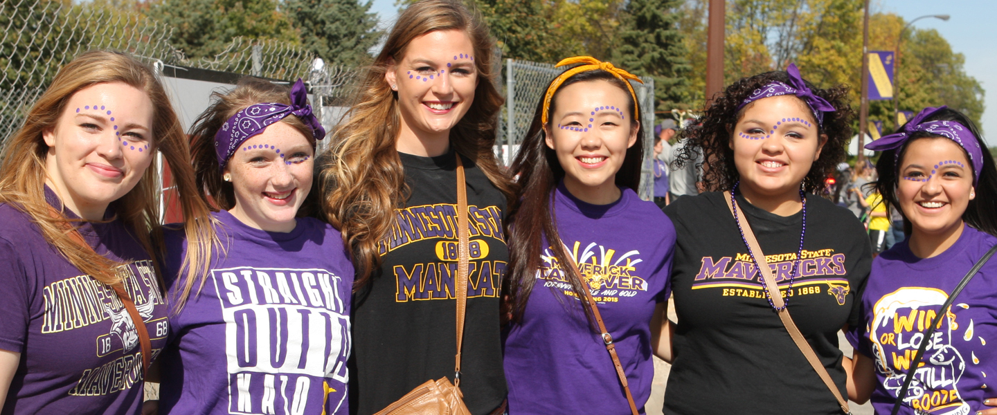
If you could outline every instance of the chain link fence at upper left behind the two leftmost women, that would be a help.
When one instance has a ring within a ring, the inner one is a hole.
[[[238,37],[212,58],[188,60],[169,45],[172,28],[166,24],[92,2],[0,0],[0,29],[0,144],[20,128],[59,70],[90,50],[127,52],[159,68],[166,64],[276,80],[308,81],[316,72],[310,52],[274,40]],[[320,68],[312,82],[334,85],[350,78],[344,77],[347,72]]]

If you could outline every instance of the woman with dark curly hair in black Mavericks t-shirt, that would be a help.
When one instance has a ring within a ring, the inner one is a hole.
[[[665,413],[840,413],[829,391],[845,395],[837,331],[858,321],[854,296],[871,261],[862,225],[820,195],[851,136],[845,94],[815,89],[791,65],[731,85],[682,132],[677,164],[702,154],[709,166],[706,193],[665,208],[678,235]],[[752,235],[760,249],[749,249]],[[782,299],[769,296],[760,266]]]

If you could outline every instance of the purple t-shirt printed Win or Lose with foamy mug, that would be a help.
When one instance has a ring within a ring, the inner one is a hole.
[[[888,414],[910,367],[921,332],[956,284],[997,238],[964,226],[948,250],[920,259],[907,241],[872,262],[861,298],[863,324],[849,339],[874,359],[876,413]],[[987,409],[983,399],[997,397],[997,260],[991,260],[959,294],[931,336],[914,373],[901,414],[966,415]],[[989,376],[989,378],[988,378]]]

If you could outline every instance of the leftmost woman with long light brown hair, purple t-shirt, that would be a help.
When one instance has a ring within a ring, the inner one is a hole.
[[[166,343],[158,154],[186,218],[186,136],[153,70],[114,52],[63,68],[0,163],[2,413],[137,413]],[[206,223],[184,233],[212,238]],[[203,245],[183,261],[202,270]],[[141,319],[141,321],[139,321]]]

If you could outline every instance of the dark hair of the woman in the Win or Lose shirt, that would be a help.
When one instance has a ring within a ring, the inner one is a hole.
[[[956,121],[965,125],[966,128],[969,128],[969,132],[972,132],[973,136],[976,137],[980,148],[983,149],[983,168],[980,171],[980,177],[977,178],[978,181],[975,186],[976,197],[969,201],[966,211],[962,213],[962,220],[973,228],[997,236],[997,168],[994,166],[993,156],[990,155],[990,151],[987,151],[987,142],[983,139],[983,135],[980,135],[980,129],[976,127],[976,123],[962,112],[952,108],[945,108],[924,118],[924,121],[939,120]],[[903,126],[900,126],[896,132],[901,132],[902,130]],[[944,137],[927,131],[915,131],[910,134],[910,138],[899,148],[883,151],[879,155],[879,161],[875,164],[876,174],[879,176],[879,179],[875,182],[875,189],[882,195],[882,200],[886,205],[896,207],[901,215],[903,215],[903,210],[899,209],[900,200],[896,196],[896,186],[899,185],[900,179],[900,166],[896,164],[896,160],[902,163],[903,155],[907,152],[907,148],[910,147],[910,143],[922,138]],[[961,149],[966,154],[966,159],[968,160],[969,154],[966,153],[965,148]],[[899,154],[897,154],[898,152]],[[903,215],[903,230],[908,235],[912,230],[912,225],[906,215]]]

